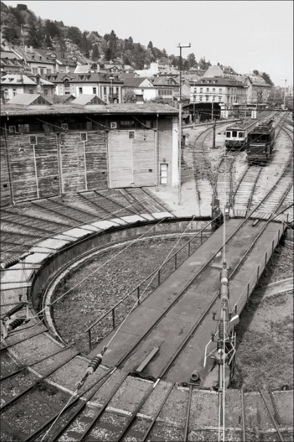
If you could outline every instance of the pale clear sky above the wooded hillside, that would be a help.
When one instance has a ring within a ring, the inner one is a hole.
[[[4,0],[26,4],[41,19],[63,21],[81,31],[149,41],[168,55],[193,52],[197,60],[231,66],[237,73],[254,69],[270,75],[276,86],[293,84],[293,1],[288,0]]]

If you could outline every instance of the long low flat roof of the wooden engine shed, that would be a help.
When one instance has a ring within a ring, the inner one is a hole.
[[[21,94],[19,97],[23,97]],[[39,95],[38,95],[39,96]],[[32,97],[32,95],[30,95]],[[15,98],[15,97],[14,97]],[[179,111],[168,104],[107,104],[101,108],[78,108],[72,104],[53,104],[50,108],[44,106],[43,109],[24,108],[23,106],[12,104],[11,100],[7,104],[2,104],[1,115],[65,115],[65,114],[102,114],[102,115],[124,115],[124,114],[161,114],[161,115],[178,115]]]

